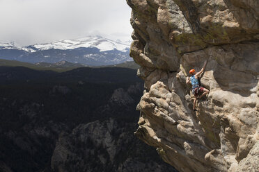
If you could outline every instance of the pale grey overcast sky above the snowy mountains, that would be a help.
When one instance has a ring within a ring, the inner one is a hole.
[[[130,40],[126,0],[0,0],[0,42],[29,44],[102,35]]]

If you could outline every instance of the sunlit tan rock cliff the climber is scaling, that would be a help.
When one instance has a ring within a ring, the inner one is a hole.
[[[130,55],[146,89],[135,135],[178,171],[257,171],[250,160],[259,152],[258,1],[127,3]],[[193,112],[185,80],[205,60],[201,84],[210,94]]]

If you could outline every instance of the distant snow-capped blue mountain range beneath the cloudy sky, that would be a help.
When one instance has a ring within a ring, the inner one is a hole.
[[[22,62],[78,62],[84,65],[115,65],[132,61],[130,42],[113,41],[100,36],[61,40],[48,44],[17,46],[0,43],[0,58]]]

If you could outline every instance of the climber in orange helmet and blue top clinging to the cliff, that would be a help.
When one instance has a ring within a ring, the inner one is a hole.
[[[191,77],[187,77],[187,79],[186,79],[186,84],[191,83],[192,93],[195,96],[194,108],[193,108],[194,111],[197,111],[196,110],[197,99],[201,98],[201,97],[203,97],[203,96],[205,96],[206,94],[209,93],[209,90],[205,89],[204,87],[201,87],[201,84],[199,82],[199,77],[201,76],[201,74],[203,74],[203,71],[205,70],[206,65],[207,65],[207,60],[204,62],[203,68],[198,73],[194,69],[191,69],[189,71],[189,73],[191,74]]]

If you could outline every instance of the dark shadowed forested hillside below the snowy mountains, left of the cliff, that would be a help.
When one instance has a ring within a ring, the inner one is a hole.
[[[136,70],[0,67],[0,171],[174,171],[135,139]]]

